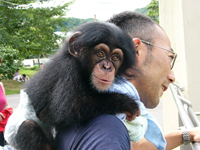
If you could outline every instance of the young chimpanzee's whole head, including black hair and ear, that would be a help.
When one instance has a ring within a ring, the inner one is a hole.
[[[68,45],[69,53],[80,62],[83,80],[89,79],[98,91],[108,89],[116,75],[126,75],[136,63],[131,37],[114,24],[86,24],[69,38]]]

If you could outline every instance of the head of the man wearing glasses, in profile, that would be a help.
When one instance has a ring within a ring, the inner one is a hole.
[[[138,12],[122,12],[108,21],[122,28],[133,39],[141,74],[131,82],[145,106],[156,107],[169,83],[175,80],[171,69],[175,54],[169,38],[155,21]]]

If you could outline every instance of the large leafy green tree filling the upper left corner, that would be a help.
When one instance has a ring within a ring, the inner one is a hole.
[[[63,25],[63,16],[72,2],[62,6],[33,8],[27,4],[36,0],[0,1],[0,45],[19,50],[20,57],[47,55],[58,48],[62,37],[55,34]]]

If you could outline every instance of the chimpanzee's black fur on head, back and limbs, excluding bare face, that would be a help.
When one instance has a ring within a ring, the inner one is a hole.
[[[85,123],[101,114],[136,114],[138,105],[134,100],[119,93],[100,93],[90,83],[93,69],[91,53],[93,47],[99,43],[122,49],[124,59],[116,77],[120,78],[121,74],[131,76],[126,70],[136,63],[132,39],[118,27],[108,23],[88,23],[76,31],[81,34],[75,37],[73,45],[65,42],[62,50],[45,64],[25,87],[37,117],[52,127],[60,128]],[[72,56],[69,48],[81,50],[80,57]],[[29,135],[34,139],[40,139],[39,136],[42,136],[39,133],[26,134]],[[21,132],[18,138],[20,136],[25,135]],[[49,141],[42,142],[49,144]],[[23,146],[23,150],[40,150],[38,147],[45,145],[41,141],[36,145],[26,146],[29,144],[27,140],[23,142],[18,139],[18,145],[21,148]]]

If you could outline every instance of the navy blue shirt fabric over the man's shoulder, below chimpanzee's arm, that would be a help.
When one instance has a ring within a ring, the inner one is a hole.
[[[80,127],[58,130],[56,150],[130,150],[124,124],[114,115],[98,116]]]

